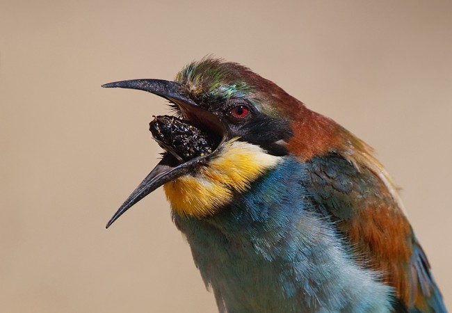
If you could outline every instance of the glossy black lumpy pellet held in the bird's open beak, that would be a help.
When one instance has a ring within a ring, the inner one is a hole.
[[[156,142],[184,161],[209,154],[215,148],[209,134],[174,116],[155,116],[149,126]]]

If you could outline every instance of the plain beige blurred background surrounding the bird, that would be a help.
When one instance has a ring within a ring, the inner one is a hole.
[[[452,307],[451,1],[0,1],[0,312],[216,312],[163,191],[159,97],[215,54],[378,151]]]

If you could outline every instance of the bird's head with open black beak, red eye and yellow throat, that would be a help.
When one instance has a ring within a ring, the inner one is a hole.
[[[166,98],[179,118],[203,129],[215,142],[209,154],[185,161],[174,153],[163,154],[107,227],[162,185],[179,213],[212,215],[282,157],[307,160],[344,141],[344,129],[272,81],[216,58],[187,65],[175,81],[136,79],[103,87],[145,90]]]

